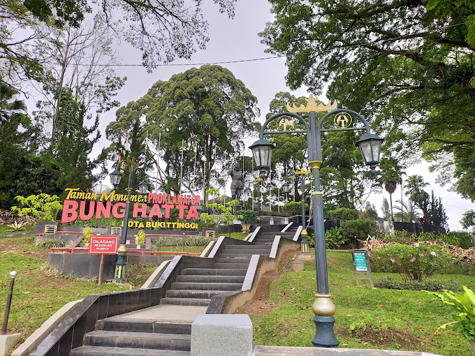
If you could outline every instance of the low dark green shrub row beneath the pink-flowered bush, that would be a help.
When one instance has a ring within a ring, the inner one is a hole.
[[[457,292],[461,289],[460,284],[455,281],[441,281],[440,279],[432,278],[424,279],[423,281],[399,281],[391,276],[374,282],[374,286],[386,289],[430,290],[431,292],[439,290],[453,290]]]

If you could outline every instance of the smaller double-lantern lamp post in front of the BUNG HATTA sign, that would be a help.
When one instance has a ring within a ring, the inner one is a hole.
[[[115,262],[115,273],[114,273],[114,283],[124,283],[125,282],[125,272],[127,266],[127,229],[129,228],[129,212],[130,212],[130,201],[131,193],[133,191],[133,178],[137,177],[140,179],[142,177],[142,170],[138,168],[138,163],[136,159],[126,158],[126,161],[119,161],[116,164],[114,172],[110,173],[110,181],[114,188],[120,184],[123,173],[129,173],[129,184],[127,184],[127,200],[125,203],[125,214],[124,214],[124,226],[122,227],[122,235],[120,238],[120,246],[117,249],[117,262]],[[145,181],[138,184],[138,189],[140,194],[146,194],[148,185]]]

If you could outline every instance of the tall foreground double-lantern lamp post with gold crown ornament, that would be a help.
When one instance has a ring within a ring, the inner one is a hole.
[[[314,183],[314,191],[312,192],[312,204],[314,206],[314,231],[315,231],[315,264],[316,264],[316,299],[312,306],[314,312],[314,322],[316,327],[315,336],[312,339],[314,346],[337,346],[339,341],[335,337],[333,325],[335,324],[335,304],[333,304],[331,295],[328,293],[328,273],[326,265],[326,249],[325,249],[325,227],[323,225],[323,193],[320,191],[320,166],[321,158],[321,133],[325,131],[349,131],[349,130],[365,130],[356,146],[359,147],[363,156],[363,161],[369,165],[373,174],[376,173],[376,165],[379,163],[379,154],[381,152],[381,143],[383,139],[378,135],[370,132],[370,126],[367,121],[358,112],[347,109],[336,109],[334,105],[316,105],[315,98],[310,96],[307,106],[293,107],[287,104],[289,112],[280,112],[270,117],[261,128],[259,140],[251,145],[252,154],[256,161],[256,168],[260,170],[260,176],[265,177],[265,171],[270,169],[270,157],[272,156],[272,144],[264,139],[264,134],[282,134],[282,133],[306,133],[309,166],[312,168],[312,176]],[[330,111],[333,110],[333,111]],[[309,124],[300,117],[297,112],[309,113]],[[328,112],[319,120],[318,126],[316,121],[316,112]],[[336,115],[336,116],[335,116]],[[265,131],[270,121],[279,117],[293,117],[297,119],[305,131]],[[323,123],[330,117],[335,116],[334,123],[336,128],[323,129]],[[356,117],[364,124],[364,128],[356,128],[351,126],[352,117]]]

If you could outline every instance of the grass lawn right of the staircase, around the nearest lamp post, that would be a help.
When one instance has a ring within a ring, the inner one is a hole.
[[[473,355],[469,343],[457,332],[436,332],[439,325],[453,321],[455,312],[449,306],[421,291],[358,288],[350,253],[328,252],[327,260],[329,289],[337,306],[335,332],[340,348]],[[373,278],[388,275],[374,273]],[[439,274],[434,278],[475,288],[473,276]],[[315,264],[306,261],[304,271],[284,272],[280,279],[272,281],[268,296],[248,302],[237,311],[249,313],[254,345],[312,346],[315,279]],[[351,325],[355,327],[352,334]]]

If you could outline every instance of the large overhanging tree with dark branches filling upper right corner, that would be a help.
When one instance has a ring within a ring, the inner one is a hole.
[[[473,1],[271,0],[261,33],[287,82],[361,112],[400,161],[414,147],[475,200]],[[453,154],[451,160],[441,157]]]

